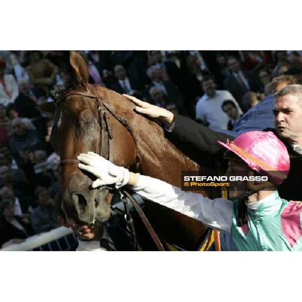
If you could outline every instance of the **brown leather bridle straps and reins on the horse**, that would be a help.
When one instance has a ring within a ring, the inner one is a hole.
[[[91,98],[96,100],[97,102],[97,110],[98,110],[98,119],[99,119],[99,124],[101,126],[102,129],[102,144],[101,144],[101,156],[106,158],[107,160],[109,160],[110,162],[112,162],[112,147],[111,147],[111,142],[113,139],[113,133],[112,133],[112,128],[110,127],[110,123],[109,123],[109,116],[108,116],[108,112],[110,112],[110,114],[116,118],[127,130],[128,132],[131,134],[134,143],[135,143],[135,158],[137,156],[137,143],[136,143],[136,138],[134,136],[133,130],[131,128],[131,126],[127,123],[127,121],[118,116],[117,114],[114,113],[114,111],[110,108],[110,106],[107,104],[106,100],[100,96],[100,95],[94,95],[94,94],[90,94],[90,93],[83,93],[83,92],[78,92],[78,91],[69,91],[67,94],[63,95],[58,101],[56,101],[56,106],[58,106],[63,100],[65,100],[67,97],[69,96],[74,96],[74,95],[78,95],[81,97],[87,97],[87,98]],[[103,105],[103,106],[102,106]],[[107,110],[107,111],[106,111]],[[61,167],[64,164],[79,164],[80,161],[76,160],[76,159],[64,159],[61,160],[59,162],[59,170],[61,169]],[[151,238],[153,239],[156,247],[158,248],[159,251],[165,251],[160,239],[158,238],[157,234],[155,233],[155,231],[153,230],[150,222],[148,221],[147,217],[145,216],[145,214],[143,213],[143,211],[141,210],[139,204],[136,202],[135,198],[130,195],[127,191],[124,191],[123,193],[121,192],[120,189],[118,189],[118,192],[121,196],[122,202],[124,203],[125,209],[128,208],[128,204],[127,201],[124,198],[124,194],[128,197],[128,199],[131,201],[131,203],[133,204],[135,210],[137,211],[139,217],[141,218],[142,222],[144,223],[149,235],[151,236]],[[129,212],[129,210],[127,209],[127,212]],[[135,229],[134,229],[134,224],[132,223],[132,218],[129,216],[126,217],[125,215],[125,220],[127,223],[131,224],[131,225],[127,225],[127,228],[132,228],[132,233],[134,233],[134,237],[135,237]],[[136,238],[134,238],[134,242],[136,245]]]

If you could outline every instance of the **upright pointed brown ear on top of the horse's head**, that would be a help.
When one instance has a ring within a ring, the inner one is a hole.
[[[69,62],[73,69],[75,79],[81,88],[87,89],[89,72],[84,58],[79,52],[70,51]]]

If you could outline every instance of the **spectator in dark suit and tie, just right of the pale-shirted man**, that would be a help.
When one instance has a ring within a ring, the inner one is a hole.
[[[259,84],[253,71],[241,70],[236,57],[228,58],[228,66],[231,74],[224,80],[224,87],[230,91],[236,101],[242,106],[242,98],[249,91],[258,91]]]

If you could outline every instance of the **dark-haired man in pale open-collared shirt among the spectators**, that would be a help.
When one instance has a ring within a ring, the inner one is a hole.
[[[202,80],[202,89],[204,95],[196,104],[196,120],[209,128],[228,128],[228,116],[221,109],[224,100],[233,100],[242,114],[241,108],[229,91],[216,90],[215,81],[211,75],[208,75]]]

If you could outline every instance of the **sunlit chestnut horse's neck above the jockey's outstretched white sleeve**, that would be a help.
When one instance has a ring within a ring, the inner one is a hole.
[[[198,171],[199,165],[180,152],[164,135],[154,121],[135,113],[135,105],[121,95],[103,87],[96,87],[110,109],[127,121],[136,142],[135,161],[139,172],[172,185],[181,185],[181,171]],[[123,141],[126,145],[127,140]],[[119,145],[122,142],[119,143]]]

